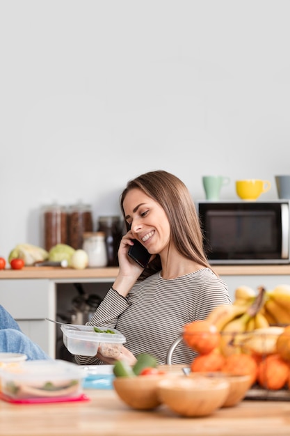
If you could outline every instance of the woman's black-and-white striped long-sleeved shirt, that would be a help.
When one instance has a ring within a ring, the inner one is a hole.
[[[125,338],[135,356],[147,352],[159,364],[185,324],[207,318],[220,304],[231,304],[226,284],[209,268],[165,280],[161,273],[137,281],[127,297],[111,288],[87,325],[113,327]],[[183,341],[172,354],[172,364],[190,364],[195,353]],[[96,357],[75,356],[79,364],[96,365]]]

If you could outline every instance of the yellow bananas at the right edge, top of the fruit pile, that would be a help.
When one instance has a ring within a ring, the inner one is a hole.
[[[290,286],[279,285],[266,292],[264,316],[269,324],[290,324]]]

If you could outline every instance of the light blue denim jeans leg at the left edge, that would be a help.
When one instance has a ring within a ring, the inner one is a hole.
[[[17,322],[1,305],[0,352],[21,352],[28,360],[50,359],[36,343],[22,333]]]

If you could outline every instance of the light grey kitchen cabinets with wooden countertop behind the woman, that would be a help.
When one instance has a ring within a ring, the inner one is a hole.
[[[265,286],[290,284],[290,265],[218,265],[214,270],[227,283],[229,295],[241,285]],[[63,301],[71,299],[70,283],[92,285],[103,296],[118,274],[117,267],[70,268],[25,267],[23,270],[0,271],[0,304],[19,322],[23,332],[47,352],[56,357],[56,325],[45,318],[56,319]]]

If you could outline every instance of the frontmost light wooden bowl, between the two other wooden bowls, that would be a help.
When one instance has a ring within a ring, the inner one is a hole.
[[[222,378],[167,377],[159,382],[158,394],[161,403],[182,416],[207,416],[225,403],[229,382]]]

